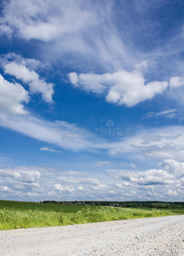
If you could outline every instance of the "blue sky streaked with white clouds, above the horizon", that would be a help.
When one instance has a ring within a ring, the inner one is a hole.
[[[0,198],[183,201],[183,1],[0,9]]]

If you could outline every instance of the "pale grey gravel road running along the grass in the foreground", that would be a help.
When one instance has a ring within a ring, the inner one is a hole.
[[[0,255],[184,255],[184,215],[0,231]]]

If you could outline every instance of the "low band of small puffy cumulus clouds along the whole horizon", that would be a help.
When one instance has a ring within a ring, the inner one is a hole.
[[[78,172],[55,169],[54,166],[27,166],[0,168],[1,198],[39,198],[39,200],[175,200],[183,197],[184,175],[178,176],[164,166],[163,169],[142,171],[108,170],[100,179],[78,176]],[[181,164],[178,162],[178,164]],[[75,174],[74,174],[75,173]],[[80,173],[80,172],[79,172]],[[86,173],[83,173],[86,174]],[[114,183],[113,179],[118,179]],[[101,182],[103,181],[103,182]],[[104,182],[106,181],[106,182]],[[123,197],[122,197],[123,195]]]

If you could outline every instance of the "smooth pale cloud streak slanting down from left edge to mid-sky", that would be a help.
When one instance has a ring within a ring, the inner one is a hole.
[[[0,117],[0,126],[45,143],[54,144],[60,148],[76,151],[89,149],[94,148],[95,143],[98,141],[94,137],[78,136],[81,133],[80,128],[65,121],[49,122],[37,119],[32,115],[9,116],[5,113],[0,113]]]

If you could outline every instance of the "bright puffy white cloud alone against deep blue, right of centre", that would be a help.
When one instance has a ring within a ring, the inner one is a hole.
[[[82,90],[104,94],[106,102],[133,107],[140,102],[152,99],[168,87],[168,82],[150,82],[145,84],[142,74],[121,70],[116,73],[69,73],[72,84]]]

